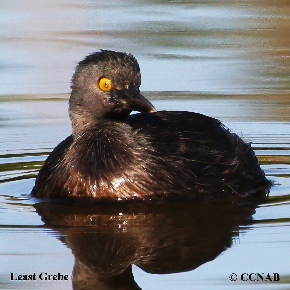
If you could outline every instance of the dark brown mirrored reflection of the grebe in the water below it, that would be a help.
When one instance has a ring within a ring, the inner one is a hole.
[[[251,224],[257,200],[163,204],[35,204],[75,256],[73,289],[141,289],[132,264],[147,273],[191,271],[231,247]]]

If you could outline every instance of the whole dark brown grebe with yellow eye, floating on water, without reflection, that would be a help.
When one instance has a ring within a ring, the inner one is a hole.
[[[217,119],[156,112],[140,94],[140,84],[140,68],[130,53],[100,50],[79,62],[69,99],[73,134],[48,156],[33,196],[243,197],[270,186],[251,144]],[[130,115],[133,110],[142,113]]]

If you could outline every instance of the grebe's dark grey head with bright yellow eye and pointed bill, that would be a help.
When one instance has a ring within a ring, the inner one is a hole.
[[[80,61],[69,100],[74,126],[99,119],[122,121],[135,110],[155,112],[140,94],[140,68],[131,53],[100,50]]]

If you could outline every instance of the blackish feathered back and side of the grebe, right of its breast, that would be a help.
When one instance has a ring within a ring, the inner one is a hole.
[[[156,178],[169,176],[178,191],[195,197],[247,196],[269,186],[258,159],[217,119],[192,112],[130,115],[128,124],[148,136]],[[174,187],[174,186],[173,186]]]

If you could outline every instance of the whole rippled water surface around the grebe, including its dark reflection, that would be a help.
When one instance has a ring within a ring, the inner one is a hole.
[[[72,289],[74,267],[75,289],[82,277],[92,282],[85,289],[125,282],[143,290],[290,289],[288,1],[15,0],[0,7],[1,289]],[[97,48],[137,57],[141,90],[158,110],[218,118],[252,142],[275,183],[269,201],[120,212],[28,198],[48,154],[71,134],[73,69]],[[87,266],[95,267],[89,275]],[[106,271],[117,278],[101,282]],[[70,278],[10,281],[10,272]],[[280,280],[233,282],[231,273],[279,273]]]

